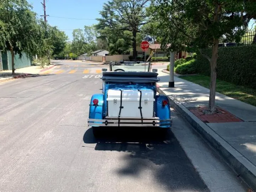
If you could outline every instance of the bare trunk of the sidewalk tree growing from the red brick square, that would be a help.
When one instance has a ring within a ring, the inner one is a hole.
[[[211,76],[210,76],[210,96],[209,96],[209,107],[208,113],[212,114],[215,112],[215,89],[216,89],[216,66],[218,59],[218,44],[219,39],[214,39],[212,47],[212,58],[210,60]]]

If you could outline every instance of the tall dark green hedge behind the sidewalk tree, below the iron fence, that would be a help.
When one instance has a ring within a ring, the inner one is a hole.
[[[203,50],[211,57],[211,49]],[[197,54],[198,73],[210,76],[210,63]],[[217,78],[256,88],[256,45],[219,48]]]

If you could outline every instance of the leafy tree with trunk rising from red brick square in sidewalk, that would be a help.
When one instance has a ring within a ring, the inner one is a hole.
[[[233,0],[156,0],[149,12],[159,21],[156,30],[164,47],[170,50],[193,48],[201,51],[212,47],[212,55],[204,55],[211,69],[209,113],[215,111],[216,66],[219,39],[241,38],[246,24],[255,13],[255,1]]]

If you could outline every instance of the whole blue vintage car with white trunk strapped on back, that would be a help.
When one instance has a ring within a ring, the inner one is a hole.
[[[88,118],[95,137],[106,127],[171,127],[169,100],[157,94],[151,63],[111,62],[103,71],[102,93],[92,95]]]

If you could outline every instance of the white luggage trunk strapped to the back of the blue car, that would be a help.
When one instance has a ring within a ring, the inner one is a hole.
[[[142,99],[142,116],[143,118],[152,118],[154,116],[154,91],[141,90]],[[121,91],[108,90],[107,92],[108,102],[108,116],[118,117],[121,106]],[[140,91],[123,90],[122,91],[122,106],[120,118],[141,118],[140,114]]]

